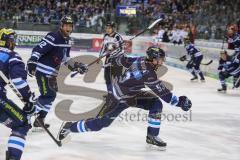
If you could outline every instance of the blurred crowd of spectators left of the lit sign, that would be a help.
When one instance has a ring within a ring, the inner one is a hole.
[[[102,25],[105,12],[110,10],[107,0],[0,0],[0,20],[33,24],[57,24],[65,14],[72,15],[75,25]]]

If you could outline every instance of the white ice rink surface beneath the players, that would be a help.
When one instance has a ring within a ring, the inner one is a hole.
[[[17,49],[24,60],[30,49]],[[72,54],[76,54],[72,52]],[[58,148],[45,132],[32,133],[27,137],[22,160],[239,160],[240,159],[240,90],[229,90],[227,94],[217,93],[217,80],[207,78],[206,83],[189,81],[187,71],[170,66],[163,80],[174,85],[173,92],[187,95],[193,103],[191,112],[184,112],[164,103],[160,137],[167,142],[166,151],[149,149],[145,143],[147,122],[140,116],[147,114],[136,108],[124,111],[121,118],[100,132],[72,134],[72,140]],[[29,78],[30,86],[38,92],[35,79]],[[85,84],[81,76],[68,77],[67,84],[104,89],[103,72],[95,83]],[[9,98],[17,100],[13,92]],[[72,111],[80,113],[97,106],[101,101],[89,97],[59,94],[54,104],[64,97],[74,100]],[[186,119],[175,118],[176,115]],[[167,120],[168,118],[168,120]],[[57,135],[61,120],[55,116],[54,109],[47,117],[50,130]],[[5,158],[6,144],[10,129],[0,125],[0,160]]]

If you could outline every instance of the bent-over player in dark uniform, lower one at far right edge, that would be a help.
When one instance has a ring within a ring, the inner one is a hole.
[[[219,80],[221,82],[222,88],[219,88],[219,92],[226,92],[227,85],[225,79],[233,76],[233,85],[235,88],[240,86],[238,80],[240,76],[240,55],[229,56],[227,51],[220,52],[220,60],[218,66]]]

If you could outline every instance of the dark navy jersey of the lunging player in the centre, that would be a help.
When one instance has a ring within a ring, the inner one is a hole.
[[[124,101],[124,99],[133,98],[148,86],[165,102],[174,105],[176,96],[157,78],[154,67],[144,57],[121,55],[114,59],[114,63],[114,65],[126,67],[124,74],[113,80],[113,95],[116,99]]]

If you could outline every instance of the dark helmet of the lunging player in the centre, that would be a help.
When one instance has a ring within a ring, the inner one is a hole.
[[[154,58],[165,58],[165,52],[158,46],[151,46],[147,49],[147,59],[152,61]]]

